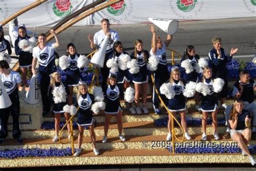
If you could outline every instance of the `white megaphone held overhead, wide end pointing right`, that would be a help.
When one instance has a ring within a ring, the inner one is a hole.
[[[148,17],[147,19],[149,19],[153,24],[158,26],[158,28],[168,33],[169,35],[174,35],[179,28],[177,20],[151,17]]]

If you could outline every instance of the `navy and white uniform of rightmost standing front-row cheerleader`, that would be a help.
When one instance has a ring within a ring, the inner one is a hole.
[[[213,92],[212,79],[205,78],[203,83],[209,87],[210,94],[207,94],[206,96],[201,95],[201,110],[203,112],[214,112],[218,109],[218,100],[217,94]]]

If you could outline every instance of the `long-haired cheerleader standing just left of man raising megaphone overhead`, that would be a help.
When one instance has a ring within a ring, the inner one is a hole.
[[[147,86],[149,85],[147,77],[147,58],[149,57],[149,52],[143,49],[143,42],[140,39],[135,40],[134,52],[131,53],[131,59],[137,59],[139,72],[137,74],[132,74],[132,81],[135,88],[135,105],[137,114],[142,113],[139,108],[139,97],[142,94],[142,110],[144,113],[149,113],[146,107],[147,101]]]

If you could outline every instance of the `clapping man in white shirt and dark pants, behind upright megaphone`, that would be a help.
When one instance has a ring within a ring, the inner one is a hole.
[[[88,36],[88,39],[91,43],[91,49],[96,50],[102,44],[105,36],[109,36],[109,42],[107,43],[107,49],[104,59],[104,66],[100,69],[102,73],[102,87],[106,85],[107,77],[109,77],[109,68],[106,66],[106,61],[113,56],[113,43],[119,40],[119,35],[116,31],[110,29],[109,19],[102,19],[102,30],[95,33],[92,38],[91,35]]]

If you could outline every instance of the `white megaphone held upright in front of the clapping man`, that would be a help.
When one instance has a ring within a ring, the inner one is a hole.
[[[91,63],[93,65],[103,67],[107,43],[109,43],[109,37],[105,36],[104,40],[102,41],[102,44],[100,44],[100,49],[97,52],[95,52],[95,54],[93,54],[91,58]]]

